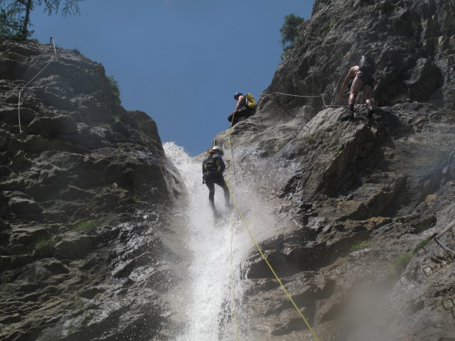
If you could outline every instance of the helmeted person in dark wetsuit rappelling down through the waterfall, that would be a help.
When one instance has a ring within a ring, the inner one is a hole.
[[[210,205],[215,209],[215,184],[223,188],[225,193],[225,203],[227,207],[230,207],[230,195],[229,188],[226,185],[225,179],[223,178],[223,172],[225,171],[225,163],[223,161],[223,148],[219,146],[213,146],[208,150],[208,158],[202,163],[202,178],[205,185],[208,188],[208,200]]]

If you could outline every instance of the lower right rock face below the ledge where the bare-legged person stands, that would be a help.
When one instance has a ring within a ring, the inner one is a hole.
[[[442,305],[454,297],[455,126],[429,104],[341,122],[344,110],[294,132],[296,121],[258,117],[232,129],[237,169],[251,170],[237,182],[260,169],[257,190],[289,225],[262,250],[319,340],[444,340],[455,332]],[[215,139],[229,146],[227,131]],[[248,264],[255,337],[313,340],[257,251]]]

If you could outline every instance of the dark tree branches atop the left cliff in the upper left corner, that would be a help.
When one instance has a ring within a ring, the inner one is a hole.
[[[28,28],[31,26],[31,12],[37,6],[43,7],[49,16],[58,11],[67,16],[80,14],[79,1],[82,0],[0,0],[0,36],[26,40],[33,34]]]

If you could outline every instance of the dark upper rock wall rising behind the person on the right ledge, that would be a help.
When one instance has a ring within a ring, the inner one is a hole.
[[[317,112],[337,102],[349,67],[371,55],[378,104],[427,102],[455,109],[454,2],[316,0],[311,18],[264,91],[316,98],[262,96],[259,108],[276,116],[295,107]],[[295,116],[295,115],[294,115]]]

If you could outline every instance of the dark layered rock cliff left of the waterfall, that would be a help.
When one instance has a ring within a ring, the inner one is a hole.
[[[181,180],[102,65],[57,53],[21,94],[19,133],[18,92],[53,48],[0,40],[0,339],[152,340],[173,276],[158,232]]]

